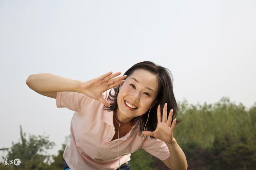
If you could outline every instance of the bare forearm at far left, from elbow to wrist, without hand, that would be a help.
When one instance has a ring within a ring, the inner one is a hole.
[[[79,92],[80,80],[73,80],[50,73],[31,74],[26,84],[38,92]]]

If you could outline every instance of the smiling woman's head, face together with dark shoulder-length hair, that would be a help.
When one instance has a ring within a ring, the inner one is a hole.
[[[143,131],[148,111],[152,108],[146,129],[154,131],[157,125],[157,107],[160,104],[163,109],[165,103],[168,104],[167,110],[173,109],[172,120],[174,120],[178,106],[172,90],[172,74],[168,68],[157,66],[151,61],[144,61],[132,66],[124,75],[126,75],[124,84],[113,89],[114,95],[110,94],[110,97],[114,98],[114,100],[111,98],[110,100],[114,102],[110,107],[105,108],[114,111],[118,120],[120,120],[119,111],[121,112],[121,125],[128,122],[134,125],[142,120],[139,125],[140,131]],[[137,106],[138,109],[132,112],[132,115],[128,115],[130,112],[125,109],[124,101]],[[179,119],[176,123],[180,121]]]

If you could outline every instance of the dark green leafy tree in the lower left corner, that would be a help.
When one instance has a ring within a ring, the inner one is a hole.
[[[20,126],[20,138],[18,143],[12,142],[12,147],[8,150],[6,158],[8,163],[10,160],[19,158],[21,164],[15,166],[14,164],[4,165],[0,164],[0,169],[18,169],[18,170],[46,170],[50,168],[51,155],[46,154],[46,150],[52,149],[55,145],[54,142],[48,140],[49,137],[39,135],[38,137],[29,134],[29,139],[26,139],[26,133],[22,132]],[[3,159],[6,159],[2,156]]]

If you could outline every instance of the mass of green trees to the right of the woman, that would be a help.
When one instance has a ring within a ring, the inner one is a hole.
[[[203,105],[188,105],[185,100],[178,107],[183,121],[176,126],[174,137],[190,170],[255,168],[251,165],[256,164],[256,104],[246,111],[241,103],[223,97],[215,104]],[[237,156],[232,156],[235,153]]]

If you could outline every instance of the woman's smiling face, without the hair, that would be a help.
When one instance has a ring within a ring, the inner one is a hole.
[[[158,80],[155,74],[138,69],[128,76],[117,96],[117,113],[121,121],[143,115],[152,106],[158,91]],[[126,104],[128,102],[128,105]],[[135,109],[130,108],[136,107]]]

